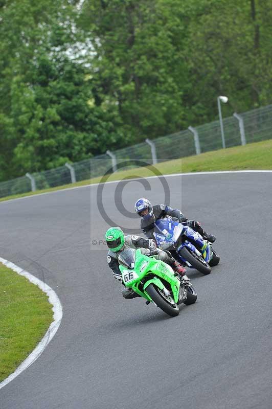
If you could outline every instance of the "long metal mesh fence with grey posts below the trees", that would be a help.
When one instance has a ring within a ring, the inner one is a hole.
[[[272,105],[254,109],[240,114],[243,122],[244,142],[252,143],[272,139]],[[241,124],[235,117],[223,120],[224,140],[226,148],[238,146],[242,143]],[[152,164],[165,162],[202,152],[222,148],[222,134],[220,122],[214,121],[194,128],[195,134],[184,130],[165,137],[152,140],[153,147],[146,142],[119,149],[108,154],[90,157],[73,164],[74,180],[89,178],[112,173],[118,168],[139,166],[139,161]],[[124,166],[124,161],[125,166]],[[121,165],[122,163],[122,165]],[[0,183],[0,197],[26,193],[35,189],[47,189],[61,186],[73,181],[72,171],[66,166],[56,169],[33,173],[29,177],[22,176]]]

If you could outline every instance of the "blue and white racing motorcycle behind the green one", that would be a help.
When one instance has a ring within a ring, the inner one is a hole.
[[[219,263],[209,241],[190,228],[188,223],[179,223],[172,218],[158,219],[154,223],[157,246],[168,251],[184,266],[196,268],[202,274],[210,274],[211,266]]]

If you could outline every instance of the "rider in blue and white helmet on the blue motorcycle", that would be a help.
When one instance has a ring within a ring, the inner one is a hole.
[[[182,212],[178,209],[172,209],[166,205],[155,205],[152,206],[148,199],[138,199],[135,203],[135,212],[139,214],[142,218],[141,220],[141,229],[143,233],[148,238],[153,238],[154,233],[154,222],[157,219],[165,218],[166,216],[171,216],[174,221],[179,221],[180,223],[188,221],[188,218],[184,216]],[[211,243],[215,242],[215,236],[206,233],[199,221],[189,220],[188,225],[190,228],[200,233],[201,236]]]

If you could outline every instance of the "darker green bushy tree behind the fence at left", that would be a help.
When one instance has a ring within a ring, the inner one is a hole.
[[[79,161],[114,146],[122,134],[115,112],[92,103],[92,82],[82,65],[67,57],[43,56],[33,67],[31,87],[13,81],[12,110],[17,145],[14,161],[21,172]]]

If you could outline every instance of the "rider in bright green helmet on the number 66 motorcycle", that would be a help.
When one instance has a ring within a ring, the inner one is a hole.
[[[156,258],[158,258],[159,260],[169,264],[174,271],[176,271],[181,277],[183,277],[184,281],[189,280],[185,275],[186,269],[179,263],[177,263],[175,259],[171,257],[171,255],[169,256],[166,252],[164,252],[160,248],[157,248],[154,239],[146,239],[144,237],[134,235],[125,236],[120,227],[112,227],[108,229],[106,231],[105,238],[107,246],[109,248],[107,254],[107,262],[114,274],[114,277],[117,280],[122,281],[122,274],[119,269],[118,256],[126,248],[140,248],[142,254],[146,256],[156,256]],[[138,294],[129,287],[123,288],[122,295],[124,298],[138,297]]]

